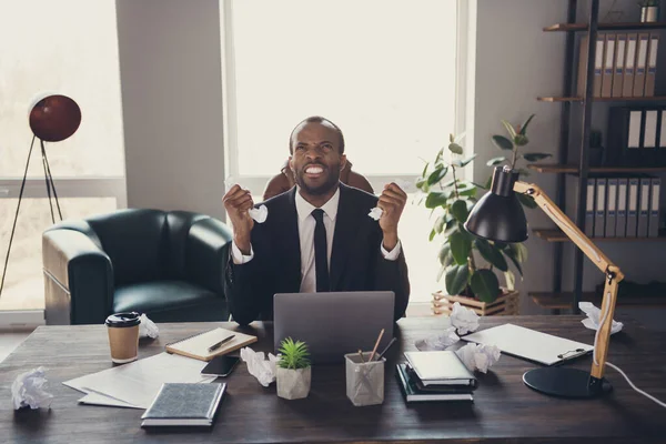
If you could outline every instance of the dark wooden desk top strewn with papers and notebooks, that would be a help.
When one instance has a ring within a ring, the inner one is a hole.
[[[593,343],[593,332],[579,316],[491,316],[482,327],[512,322],[572,340]],[[623,319],[625,330],[613,336],[609,361],[622,367],[638,387],[666,400],[666,350],[663,339]],[[535,365],[503,355],[492,373],[481,375],[474,403],[406,404],[394,377],[402,352],[433,334],[442,320],[412,317],[398,322],[401,347],[387,354],[383,405],[354,407],[345,396],[344,366],[315,366],[310,396],[285,401],[275,384],[264,389],[240,364],[215,425],[210,431],[152,432],[140,427],[139,410],[78,405],[81,393],[61,384],[72,377],[111,366],[103,325],[42,326],[0,364],[0,441],[19,443],[93,442],[464,442],[511,443],[646,443],[666,440],[666,410],[634,392],[614,370],[607,376],[614,391],[592,401],[548,397],[526,387],[522,375]],[[209,329],[213,323],[161,324],[160,337],[142,342],[140,357],[163,351],[165,343]],[[253,324],[254,325],[254,324]],[[235,324],[224,326],[238,329]],[[269,351],[271,324],[255,323],[260,342]],[[588,370],[591,356],[576,367]],[[54,395],[51,410],[14,412],[10,387],[14,377],[39,365]]]

